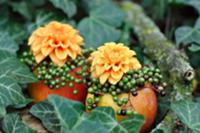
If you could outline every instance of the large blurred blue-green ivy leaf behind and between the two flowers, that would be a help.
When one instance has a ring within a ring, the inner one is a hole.
[[[92,9],[89,14],[78,24],[86,47],[97,48],[105,42],[120,39],[121,32],[116,28],[122,24],[124,13],[116,5],[108,2]]]

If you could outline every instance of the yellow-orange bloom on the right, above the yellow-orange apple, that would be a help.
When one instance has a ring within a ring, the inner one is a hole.
[[[105,43],[104,46],[94,51],[91,60],[91,73],[104,84],[107,80],[116,84],[123,74],[129,70],[141,68],[141,64],[135,57],[136,53],[124,46],[122,43]]]

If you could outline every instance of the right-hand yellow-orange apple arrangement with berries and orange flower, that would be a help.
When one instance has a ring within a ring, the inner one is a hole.
[[[158,68],[142,66],[136,53],[122,43],[105,43],[91,53],[91,76],[87,81],[86,108],[90,112],[100,106],[112,107],[119,121],[133,113],[142,114],[148,131],[157,113],[155,92],[165,94]]]

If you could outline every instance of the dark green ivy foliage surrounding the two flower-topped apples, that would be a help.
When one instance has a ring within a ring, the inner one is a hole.
[[[31,33],[50,21],[68,23],[77,28],[84,37],[84,47],[97,48],[109,41],[123,42],[137,52],[142,64],[155,65],[156,61],[152,62],[149,58],[151,55],[146,54],[143,44],[135,36],[137,33],[133,33],[131,28],[134,25],[125,21],[125,16],[128,14],[121,10],[121,1],[0,0],[0,132],[35,132],[24,123],[20,112],[31,102],[26,93],[26,86],[37,79],[18,57],[24,49],[28,49],[27,41]],[[183,53],[187,53],[195,68],[199,68],[200,0],[135,0],[135,2],[143,6],[161,31],[170,36]],[[151,42],[151,39],[148,41]],[[170,82],[173,80],[169,79],[168,75],[164,79]],[[187,88],[189,83],[186,81],[182,83],[181,89],[189,92]],[[174,84],[170,87],[173,88]],[[173,89],[180,90],[180,86]],[[170,91],[171,89],[168,93]],[[199,94],[198,91],[194,92],[195,97],[196,93]],[[173,97],[179,99],[178,94]],[[198,102],[185,99],[174,103],[169,96],[159,97],[158,101],[158,113],[152,133],[171,131],[168,125],[162,123],[169,110],[182,123],[182,127],[176,127],[178,133],[200,132]],[[46,101],[32,106],[30,113],[40,119],[42,125],[53,133],[91,131],[92,133],[137,133],[144,122],[142,116],[134,114],[119,123],[111,108],[96,108],[90,114],[84,110],[85,107],[81,103],[51,95]]]

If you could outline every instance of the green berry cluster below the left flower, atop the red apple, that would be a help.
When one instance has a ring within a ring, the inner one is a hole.
[[[87,54],[91,50],[84,50]],[[89,65],[85,56],[78,56],[76,59],[67,61],[62,67],[55,65],[49,58],[36,65],[34,56],[30,52],[24,52],[21,61],[31,67],[38,80],[43,81],[50,89],[59,89],[68,85],[74,89],[74,84],[85,83],[85,77],[88,77]],[[34,65],[34,67],[32,67]],[[70,72],[77,71],[74,74]],[[73,90],[73,94],[77,94]]]

